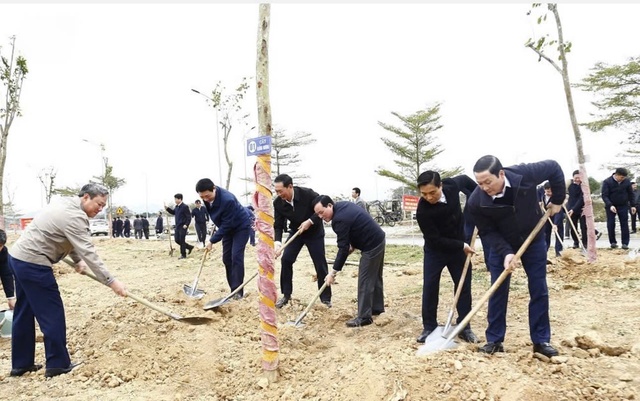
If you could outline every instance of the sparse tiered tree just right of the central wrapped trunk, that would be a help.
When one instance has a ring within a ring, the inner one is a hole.
[[[301,184],[309,178],[306,174],[298,174],[293,170],[300,164],[300,148],[315,143],[309,132],[297,131],[287,134],[283,129],[274,129],[271,136],[271,163],[273,178],[282,173],[287,173],[293,178],[293,182]],[[284,171],[286,169],[286,171]]]

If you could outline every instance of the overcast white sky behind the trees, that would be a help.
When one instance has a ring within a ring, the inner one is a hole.
[[[529,4],[272,4],[270,95],[273,123],[307,131],[301,150],[306,186],[331,196],[362,189],[384,199],[398,185],[377,177],[394,169],[378,121],[442,102],[440,168],[495,154],[503,164],[556,159],[569,177],[575,142],[560,74],[524,47],[541,28]],[[638,55],[640,4],[560,4],[569,72],[579,82],[598,61]],[[126,186],[115,205],[158,210],[182,192],[197,198],[203,177],[219,184],[215,112],[210,93],[255,77],[258,4],[0,4],[0,45],[9,37],[30,69],[23,117],[9,136],[6,190],[21,211],[43,204],[38,172],[54,166],[58,186],[101,173],[104,143]],[[553,26],[553,25],[550,25]],[[255,88],[247,106],[257,125]],[[590,94],[574,89],[578,118],[589,119]],[[582,130],[589,173],[618,152],[620,134]],[[232,133],[230,190],[245,202],[245,132]],[[252,135],[256,135],[254,130]],[[94,144],[84,142],[87,139]],[[255,161],[247,158],[250,174]],[[222,162],[223,180],[226,163]],[[224,183],[223,183],[224,184]],[[251,189],[251,187],[249,188]]]

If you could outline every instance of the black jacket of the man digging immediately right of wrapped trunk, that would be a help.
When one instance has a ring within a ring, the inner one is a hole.
[[[322,224],[322,220],[313,212],[312,203],[317,196],[318,193],[313,189],[294,186],[293,208],[280,197],[277,197],[273,201],[275,214],[273,228],[275,230],[276,241],[282,241],[282,232],[284,230],[291,232],[298,231],[300,224],[308,219],[311,219],[313,225],[302,235],[309,237],[324,235],[324,225]],[[287,220],[289,221],[289,228],[287,228]]]

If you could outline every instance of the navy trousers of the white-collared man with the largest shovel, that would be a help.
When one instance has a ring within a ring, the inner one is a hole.
[[[547,253],[544,237],[539,235],[522,255],[522,265],[529,286],[529,335],[534,344],[549,342],[549,290],[547,288]],[[504,271],[504,256],[491,252],[489,256],[491,284]],[[507,303],[511,275],[502,282],[489,298],[488,326],[485,336],[488,342],[503,342],[507,331]]]

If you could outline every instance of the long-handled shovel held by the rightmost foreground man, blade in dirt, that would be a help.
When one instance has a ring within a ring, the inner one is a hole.
[[[449,334],[449,336],[446,339],[439,338],[439,341],[434,341],[432,343],[427,343],[425,341],[424,345],[420,346],[420,348],[418,348],[418,351],[416,352],[418,356],[426,355],[431,352],[441,351],[448,348],[454,348],[456,346],[453,339],[458,334],[460,334],[462,329],[464,329],[467,326],[467,324],[469,324],[473,316],[476,313],[478,313],[478,311],[480,310],[480,307],[482,307],[482,305],[485,302],[487,302],[489,297],[491,297],[491,295],[493,295],[493,293],[496,292],[496,290],[498,289],[498,287],[500,287],[502,282],[515,269],[516,263],[520,260],[524,252],[527,250],[527,248],[531,244],[531,241],[533,241],[536,235],[538,235],[538,232],[540,232],[540,229],[542,228],[542,226],[545,225],[549,217],[551,217],[551,209],[547,209],[545,214],[540,218],[540,220],[538,220],[538,224],[536,224],[536,226],[533,228],[533,230],[531,231],[527,239],[520,246],[520,249],[518,249],[518,252],[516,252],[516,254],[514,255],[513,259],[511,260],[511,264],[509,265],[509,268],[505,269],[502,272],[502,274],[498,276],[498,278],[493,283],[493,285],[489,288],[489,290],[482,296],[482,298],[478,301],[478,303],[476,303],[476,306],[474,306],[473,309],[471,309],[471,311],[467,314],[467,316],[465,316],[464,319],[462,319],[462,321],[458,323],[458,325],[455,327],[455,329],[453,329],[453,331]]]

